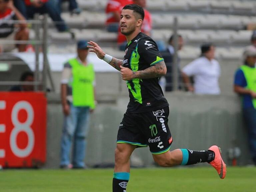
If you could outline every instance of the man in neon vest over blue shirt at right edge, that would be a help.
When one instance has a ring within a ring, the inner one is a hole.
[[[256,165],[256,47],[245,48],[243,61],[244,65],[235,74],[234,91],[243,98],[243,117],[253,163]]]

